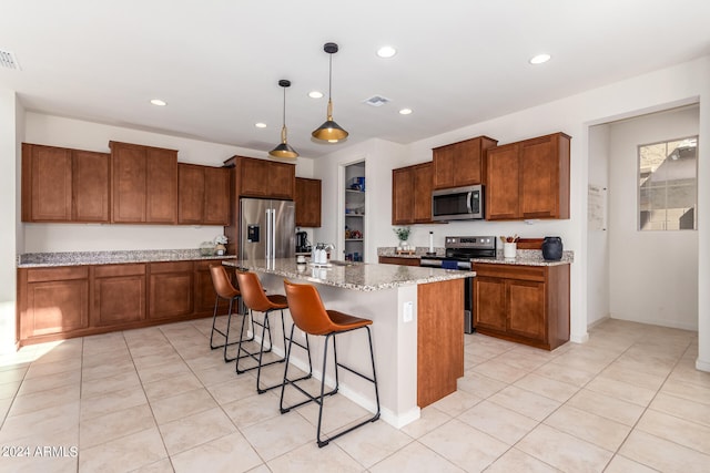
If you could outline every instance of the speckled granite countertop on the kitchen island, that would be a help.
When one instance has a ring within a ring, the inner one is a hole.
[[[223,264],[255,273],[267,273],[290,279],[301,279],[365,292],[462,279],[476,275],[473,271],[353,261],[331,261],[329,267],[318,267],[310,264],[296,264],[295,258],[231,260]]]

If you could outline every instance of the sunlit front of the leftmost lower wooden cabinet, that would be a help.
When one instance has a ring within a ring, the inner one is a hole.
[[[89,327],[89,278],[85,267],[27,271],[18,300],[20,339],[71,332]],[[23,300],[24,299],[24,300]]]

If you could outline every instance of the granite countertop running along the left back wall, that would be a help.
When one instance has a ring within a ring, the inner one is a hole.
[[[115,265],[126,263],[187,261],[236,258],[234,255],[202,256],[200,249],[138,249],[120,251],[27,253],[18,256],[18,268]]]

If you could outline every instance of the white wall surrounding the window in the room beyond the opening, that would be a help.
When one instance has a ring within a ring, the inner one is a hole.
[[[698,232],[637,229],[637,146],[696,135],[698,120],[698,107],[686,107],[609,125],[613,318],[698,329]]]

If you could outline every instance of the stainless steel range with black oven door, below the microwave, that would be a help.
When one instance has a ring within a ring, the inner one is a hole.
[[[457,236],[446,237],[444,256],[423,256],[422,266],[444,269],[470,270],[471,258],[495,258],[496,237],[494,236]],[[473,278],[466,279],[464,286],[464,331],[474,332],[474,288]]]

